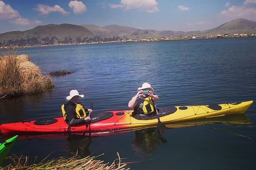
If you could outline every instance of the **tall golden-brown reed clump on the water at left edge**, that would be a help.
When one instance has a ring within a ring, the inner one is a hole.
[[[0,56],[0,99],[52,89],[52,79],[28,55]]]

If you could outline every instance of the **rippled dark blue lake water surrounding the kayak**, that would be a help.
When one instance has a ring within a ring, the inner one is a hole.
[[[18,54],[29,55],[43,72],[74,73],[52,77],[56,84],[53,90],[0,100],[0,123],[59,117],[64,98],[72,89],[85,94],[80,100],[85,106],[94,101],[94,112],[126,110],[143,82],[151,83],[159,95],[158,106],[256,101],[256,38],[38,47],[19,49]],[[11,154],[42,160],[53,151],[50,158],[72,156],[69,152],[78,149],[83,157],[104,153],[99,159],[105,162],[113,162],[119,152],[127,158],[124,162],[140,161],[129,164],[132,169],[255,169],[255,103],[246,114],[195,123],[198,125],[169,128],[164,133],[166,143],[157,138],[155,129],[91,141],[81,136],[23,136]]]

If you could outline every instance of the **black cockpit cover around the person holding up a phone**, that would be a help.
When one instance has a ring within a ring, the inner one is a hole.
[[[165,115],[169,115],[169,114],[173,114],[174,112],[177,111],[176,107],[173,106],[169,106],[169,107],[158,107],[158,114],[159,117],[161,116],[165,116]],[[135,119],[138,120],[149,120],[149,119],[156,119],[158,116],[157,115],[139,115],[136,114],[134,116]]]

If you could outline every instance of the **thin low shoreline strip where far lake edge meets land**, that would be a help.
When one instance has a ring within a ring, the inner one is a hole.
[[[109,43],[130,43],[130,42],[159,42],[159,41],[177,41],[177,40],[202,40],[202,39],[223,39],[223,38],[251,38],[255,36],[246,36],[246,37],[195,37],[195,38],[185,38],[185,37],[173,37],[169,39],[160,39],[160,38],[148,38],[141,40],[122,40],[122,41],[111,41],[111,42],[92,42],[92,43],[68,43],[68,44],[54,44],[54,45],[35,45],[35,46],[11,46],[11,47],[0,47],[0,50],[8,49],[18,49],[18,48],[35,48],[35,47],[59,47],[59,46],[71,46],[71,45],[90,45],[90,44],[109,44]]]

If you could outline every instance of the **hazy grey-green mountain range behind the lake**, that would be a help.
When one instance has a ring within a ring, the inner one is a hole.
[[[137,29],[127,26],[48,24],[25,31],[11,31],[0,34],[0,46],[33,46],[67,43],[107,42],[140,38],[209,36],[217,34],[255,34],[256,22],[247,19],[234,19],[218,27],[203,31],[171,31]]]

